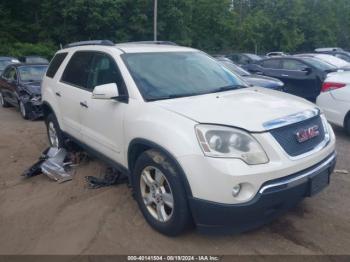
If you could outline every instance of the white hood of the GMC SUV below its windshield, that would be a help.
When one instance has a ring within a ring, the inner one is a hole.
[[[316,107],[302,98],[259,87],[153,103],[198,123],[234,126],[251,132],[266,131],[267,122]]]

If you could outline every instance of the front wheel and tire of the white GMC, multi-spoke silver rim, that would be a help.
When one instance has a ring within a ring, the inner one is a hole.
[[[143,216],[158,232],[176,236],[192,225],[177,168],[161,152],[152,149],[140,155],[133,171],[133,188]]]

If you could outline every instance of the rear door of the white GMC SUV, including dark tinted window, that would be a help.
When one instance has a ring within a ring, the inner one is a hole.
[[[85,106],[82,97],[90,94],[87,82],[92,58],[92,52],[75,52],[56,89],[63,130],[78,140],[81,140],[81,112]]]

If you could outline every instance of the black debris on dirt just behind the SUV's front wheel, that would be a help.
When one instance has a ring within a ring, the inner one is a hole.
[[[128,182],[128,177],[123,175],[117,169],[108,167],[102,178],[87,176],[85,177],[88,187],[90,189],[96,189],[100,187],[106,187],[111,185],[124,184]]]

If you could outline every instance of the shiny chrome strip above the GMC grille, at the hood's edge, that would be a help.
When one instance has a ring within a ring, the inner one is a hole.
[[[308,109],[299,113],[295,113],[292,115],[267,121],[263,123],[263,127],[268,131],[271,129],[292,125],[292,124],[307,120],[309,118],[318,116],[319,114],[320,114],[320,110],[318,108]]]

